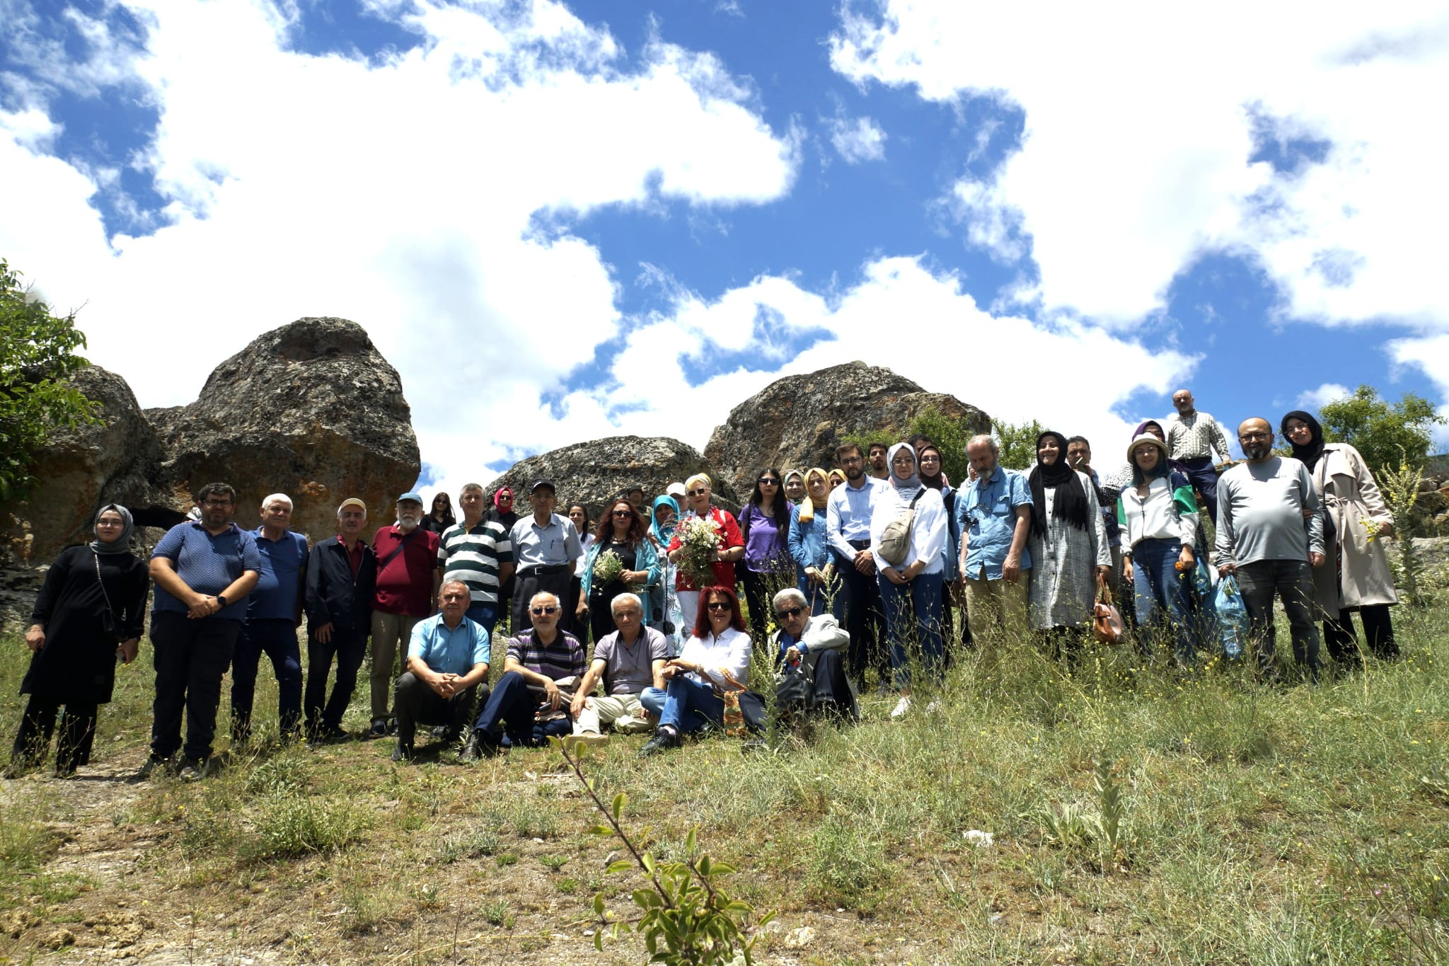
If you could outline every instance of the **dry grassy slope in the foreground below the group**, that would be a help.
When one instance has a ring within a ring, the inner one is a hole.
[[[739,868],[732,889],[778,912],[762,962],[1449,962],[1449,608],[1394,617],[1400,662],[1317,686],[1126,649],[1065,673],[1017,643],[958,656],[930,717],[871,697],[862,724],[777,753],[640,760],[639,736],[587,769],[662,856],[698,827]],[[587,834],[555,752],[236,749],[197,785],[130,784],[146,658],[81,781],[0,788],[0,963],[646,959],[632,936],[593,949],[594,892],[627,917],[640,881],[606,875],[619,843]],[[25,663],[0,640],[6,743]],[[259,721],[274,695],[264,662]]]

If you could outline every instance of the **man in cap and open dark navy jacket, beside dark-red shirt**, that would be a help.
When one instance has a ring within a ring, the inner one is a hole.
[[[301,710],[313,742],[348,736],[342,714],[356,688],[377,587],[377,556],[362,539],[364,526],[367,504],[356,497],[343,500],[338,507],[338,536],[322,540],[307,556],[307,688]],[[333,658],[338,679],[329,698]]]

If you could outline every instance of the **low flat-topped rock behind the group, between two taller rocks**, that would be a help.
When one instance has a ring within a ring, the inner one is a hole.
[[[651,504],[675,479],[701,471],[716,478],[698,450],[677,439],[610,436],[519,461],[487,490],[493,494],[504,485],[511,487],[514,508],[532,513],[529,488],[536,479],[552,479],[558,487],[558,513],[567,511],[567,503],[582,501],[590,520],[597,521],[609,501],[630,487],[643,487],[645,504]],[[733,487],[717,481],[713,490],[716,503],[730,511],[739,510]]]

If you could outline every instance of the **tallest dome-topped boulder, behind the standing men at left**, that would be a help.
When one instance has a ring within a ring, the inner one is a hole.
[[[391,523],[393,501],[422,468],[397,369],[346,319],[272,329],[216,366],[196,403],[148,416],[175,507],[227,482],[238,521],[255,526],[262,497],[285,492],[293,529],[314,540],[335,532],[348,497],[368,505],[371,526]]]

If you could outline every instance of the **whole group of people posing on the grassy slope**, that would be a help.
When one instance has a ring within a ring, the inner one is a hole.
[[[738,516],[713,501],[707,474],[649,505],[642,488],[622,492],[594,527],[582,504],[555,511],[549,479],[530,488],[526,516],[510,488],[490,504],[468,484],[461,518],[446,494],[425,510],[406,492],[371,542],[367,505],[343,500],[336,533],[309,546],[290,529],[285,494],[265,497],[261,526],[243,530],[233,488],[210,484],[146,565],[130,552],[130,513],[109,504],[96,539],[61,553],[36,598],[20,688],[29,702],[6,775],[36,768],[57,726],[57,775],[87,763],[97,707],[116,662],[136,656],[152,584],[142,772],[188,779],[212,759],[227,669],[232,740],[249,739],[262,655],[280,734],[330,742],[348,737],[343,713],[371,650],[367,736],[396,736],[396,760],[413,757],[420,726],[477,759],[551,736],[604,742],[606,728],[653,731],[643,752],[655,753],[700,727],[758,728],[767,710],[853,720],[869,671],[898,695],[898,718],[911,711],[913,671],[945,673],[953,627],[962,646],[1029,630],[1069,660],[1094,601],[1126,588],[1148,658],[1168,642],[1191,666],[1207,643],[1194,588],[1229,578],[1265,676],[1278,673],[1275,597],[1314,679],[1319,621],[1335,660],[1359,659],[1355,610],[1368,650],[1392,658],[1397,598],[1379,537],[1394,521],[1358,450],[1326,443],[1295,410],[1279,423],[1293,456],[1274,453],[1266,420],[1249,419],[1237,427],[1245,459],[1232,463],[1226,433],[1191,392],[1172,401],[1177,413],[1137,426],[1126,465],[1107,475],[1081,436],[1042,433],[1023,472],[1001,466],[982,434],[966,443],[966,479],[953,487],[939,446],[916,436],[840,446],[830,471],[765,468]],[[1201,510],[1216,532],[1211,574]],[[503,621],[507,653],[490,686]],[[775,668],[772,695],[748,688],[755,646]]]

